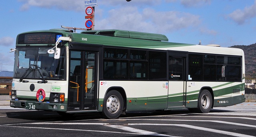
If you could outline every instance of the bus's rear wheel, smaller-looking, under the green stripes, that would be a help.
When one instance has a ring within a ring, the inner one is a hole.
[[[198,112],[208,113],[212,109],[212,94],[208,90],[202,90],[198,98]]]

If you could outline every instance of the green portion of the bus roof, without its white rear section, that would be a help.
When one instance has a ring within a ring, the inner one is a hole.
[[[162,34],[125,31],[117,29],[82,31],[81,33],[72,33],[68,29],[29,31],[18,34],[16,41],[17,45],[19,35],[26,33],[62,33],[63,37],[71,37],[72,42],[74,43],[88,43],[119,47],[136,47],[144,49],[157,49],[166,47],[194,45],[168,42],[168,38]]]

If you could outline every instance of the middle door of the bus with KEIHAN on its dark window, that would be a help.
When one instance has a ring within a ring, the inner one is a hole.
[[[185,61],[185,53],[169,53],[169,109],[170,107],[184,106],[184,96],[186,95]]]

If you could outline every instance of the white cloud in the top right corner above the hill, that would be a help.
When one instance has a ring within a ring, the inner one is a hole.
[[[246,20],[256,16],[256,0],[252,6],[245,7],[243,10],[235,10],[228,15],[234,22],[242,25]]]

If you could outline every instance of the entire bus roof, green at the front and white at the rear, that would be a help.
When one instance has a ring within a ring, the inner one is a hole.
[[[168,38],[162,34],[144,33],[136,31],[125,31],[117,29],[91,30],[81,33],[72,33],[68,29],[50,29],[41,31],[30,31],[26,33],[62,33],[64,37],[71,37],[72,43],[88,43],[95,45],[134,47],[142,49],[177,50],[200,53],[216,53],[228,55],[241,55],[241,49],[225,47],[212,47],[195,44],[168,42]],[[21,33],[24,34],[24,33]],[[20,34],[19,34],[20,35]],[[17,42],[18,44],[18,37]],[[54,43],[53,43],[54,44]],[[243,53],[243,52],[242,52]]]

